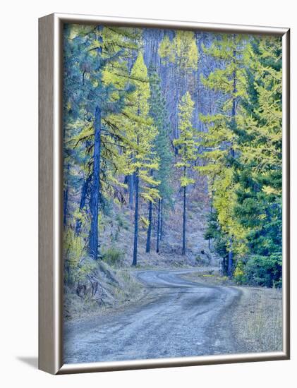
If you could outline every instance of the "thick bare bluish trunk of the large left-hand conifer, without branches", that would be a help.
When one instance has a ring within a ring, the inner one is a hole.
[[[100,190],[100,157],[101,157],[101,109],[95,109],[95,144],[93,154],[93,178],[90,200],[91,229],[89,235],[89,253],[97,260],[98,258],[98,212]]]

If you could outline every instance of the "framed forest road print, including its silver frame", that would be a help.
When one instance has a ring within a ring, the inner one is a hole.
[[[40,369],[289,358],[289,29],[40,18]]]

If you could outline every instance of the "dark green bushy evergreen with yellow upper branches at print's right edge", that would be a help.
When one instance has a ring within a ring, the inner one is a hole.
[[[273,286],[281,281],[282,256],[281,39],[253,39],[249,53],[234,209],[248,245],[246,280]]]

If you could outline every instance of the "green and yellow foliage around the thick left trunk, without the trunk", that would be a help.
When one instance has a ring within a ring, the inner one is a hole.
[[[129,133],[123,131],[122,116],[134,90],[129,83],[128,60],[140,42],[140,31],[133,28],[64,26],[65,190],[77,190],[87,177],[91,177],[89,186],[92,185],[95,109],[99,105],[102,111],[99,202],[107,213],[107,198],[123,202],[123,183],[119,177],[126,173],[129,152],[135,146]],[[79,219],[78,213],[77,216]],[[68,218],[69,223],[72,220]]]

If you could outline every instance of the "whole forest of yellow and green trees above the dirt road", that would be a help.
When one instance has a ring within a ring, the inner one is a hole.
[[[281,286],[281,38],[65,25],[63,44],[66,289],[213,259]]]

